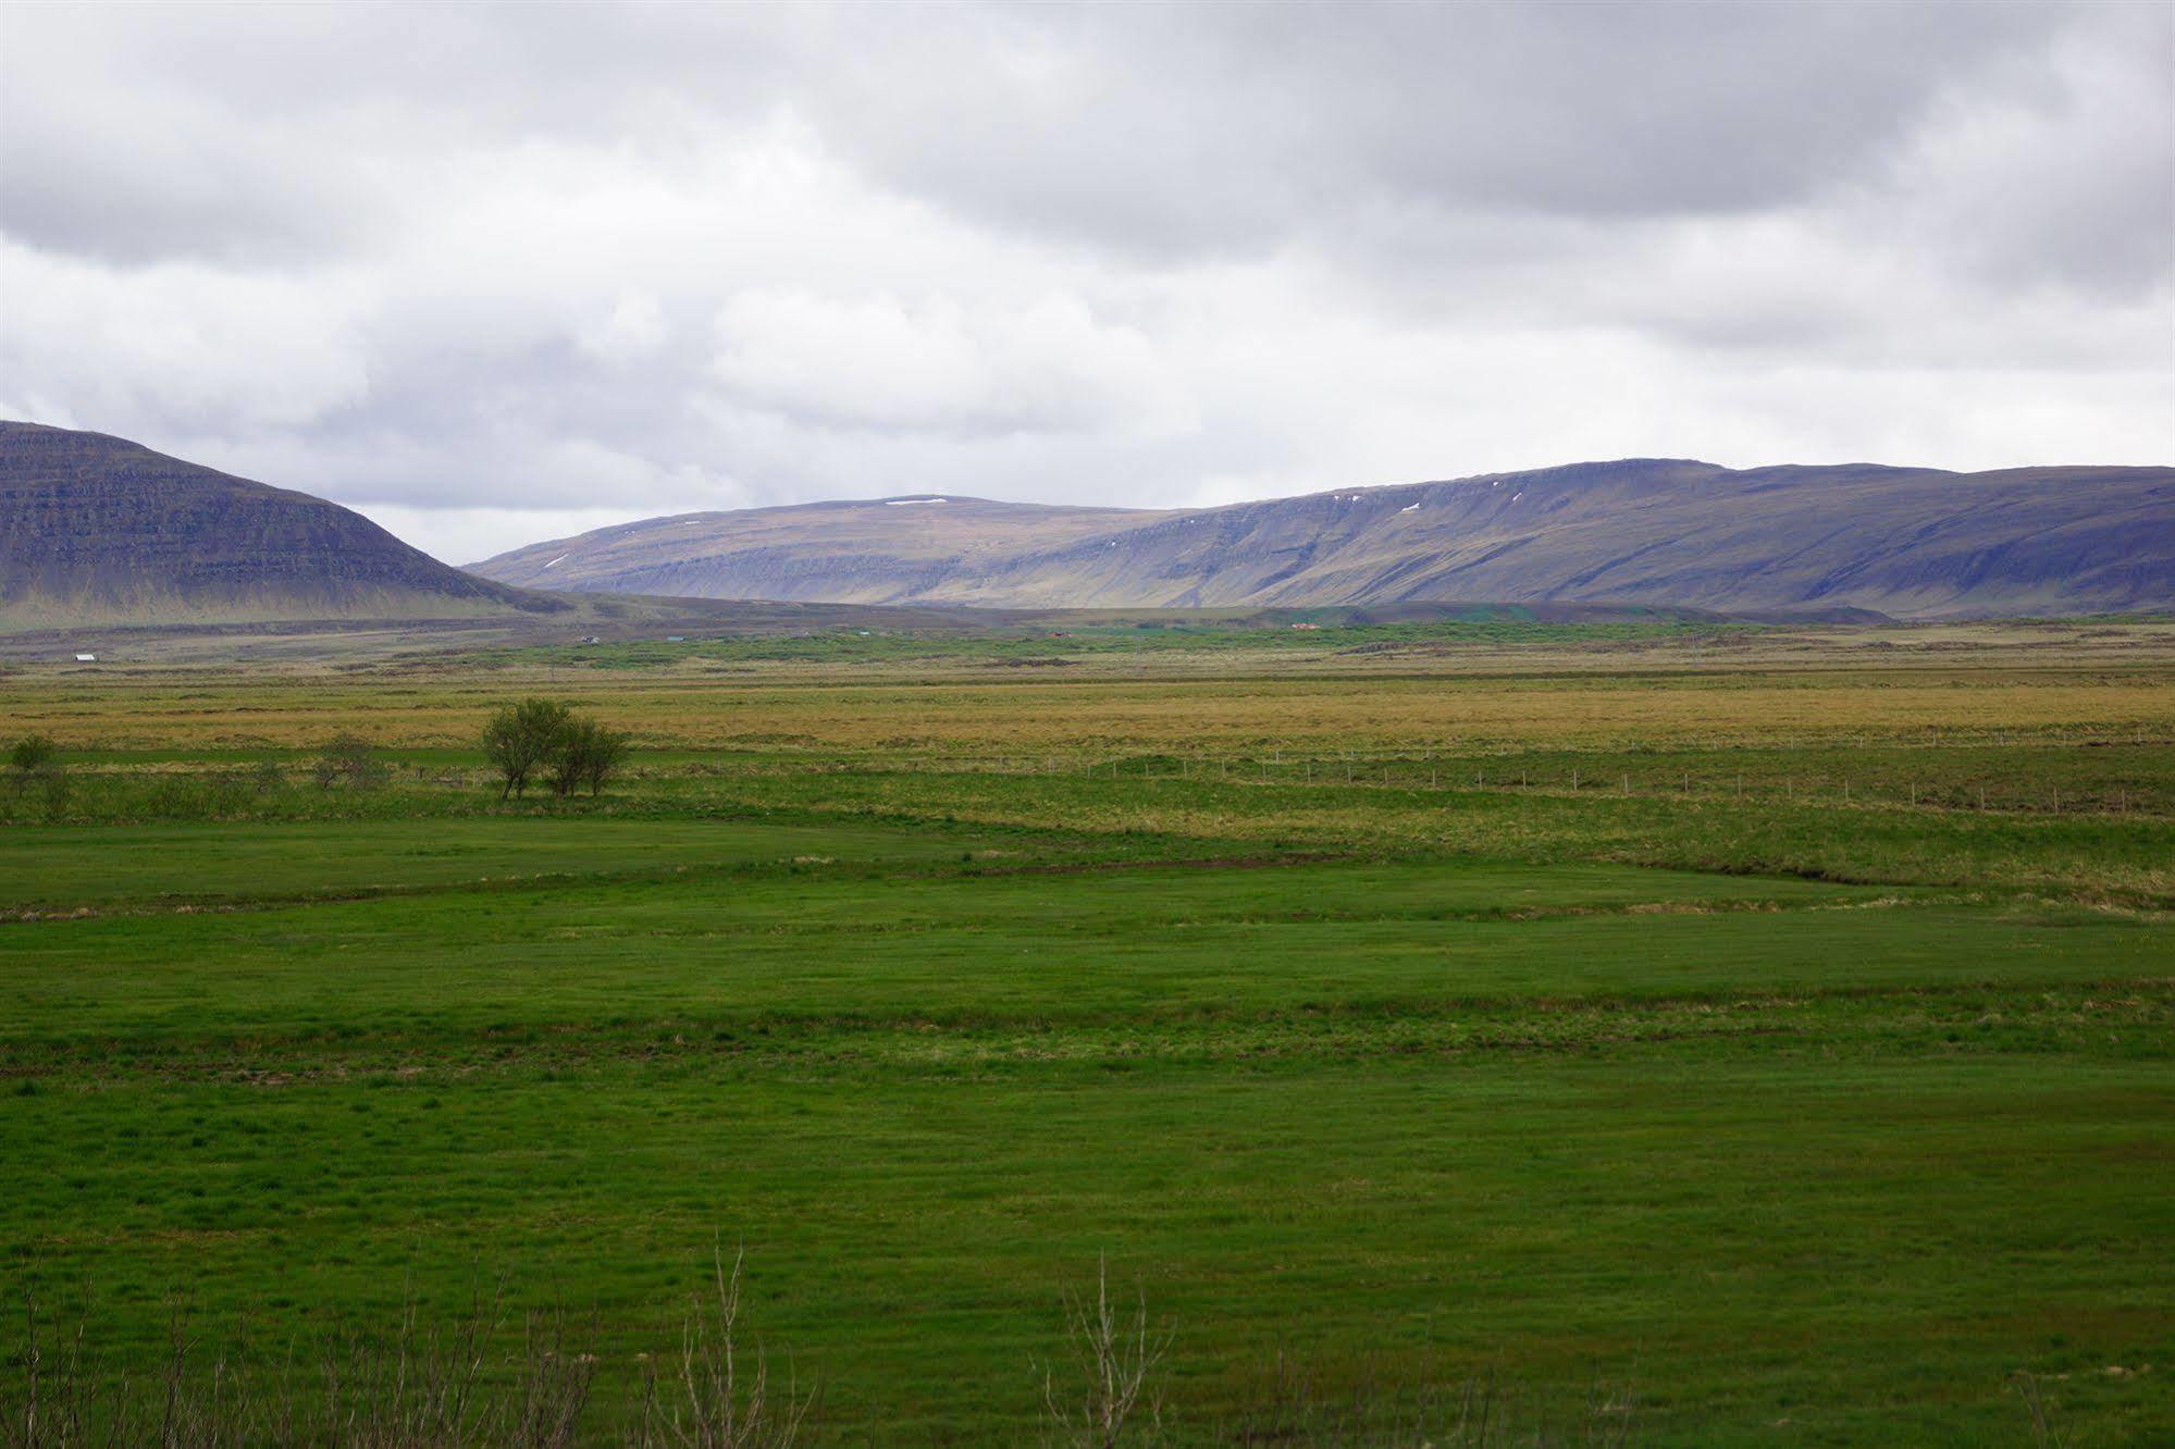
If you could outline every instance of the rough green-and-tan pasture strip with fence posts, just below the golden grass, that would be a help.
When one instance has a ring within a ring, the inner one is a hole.
[[[1418,851],[2175,907],[2175,746],[2166,744],[1148,755],[1055,770],[1031,755],[913,761],[683,748],[637,753],[631,775],[598,801],[533,792],[509,803],[474,753],[387,757],[391,783],[355,792],[307,783],[298,753],[261,759],[272,766],[261,772],[78,751],[54,801],[37,785],[0,785],[0,829],[24,827],[15,849],[0,838],[9,855],[0,914],[135,896],[217,903],[974,851],[998,851],[992,866]],[[529,829],[548,820],[598,829]],[[772,822],[776,849],[742,853],[718,820]],[[283,825],[294,835],[228,833],[235,825]],[[863,827],[892,833],[863,846]],[[89,853],[46,842],[87,842]],[[100,855],[98,842],[115,849]]]

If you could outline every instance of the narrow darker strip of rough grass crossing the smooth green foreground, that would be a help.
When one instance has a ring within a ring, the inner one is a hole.
[[[252,1033],[174,1040],[100,1033],[89,1040],[9,1040],[0,1079],[22,1092],[128,1077],[287,1086],[459,1086],[513,1073],[583,1073],[642,1062],[655,1073],[709,1077],[822,1070],[1016,1075],[1244,1068],[1305,1062],[1457,1060],[1483,1055],[1699,1049],[1729,1060],[1818,1053],[1823,1060],[1903,1060],[2044,1053],[2175,1057],[2175,975],[2077,983],[1964,981],[1792,994],[1705,992],[1638,999],[1544,999],[1401,1005],[1353,1012],[1198,1012],[1185,1020],[713,1018],[642,1025],[555,1023],[496,1031],[400,1027],[383,1033]],[[44,1083],[44,1086],[41,1086]]]

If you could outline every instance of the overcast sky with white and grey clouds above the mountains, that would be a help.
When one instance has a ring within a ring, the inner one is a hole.
[[[2175,7],[0,9],[0,416],[452,561],[2175,461]]]

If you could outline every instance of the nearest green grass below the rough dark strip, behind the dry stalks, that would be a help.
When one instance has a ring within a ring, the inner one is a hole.
[[[2025,1442],[2034,1369],[2073,1434],[2153,1442],[2166,1110],[2164,1062],[1664,1046],[977,1079],[629,1053],[120,1079],[7,1123],[11,1231],[137,1362],[176,1295],[281,1332],[509,1271],[596,1312],[624,1392],[722,1229],[846,1440],[1031,1438],[1059,1295],[1109,1253],[1177,1329],[1194,1440],[1283,1349],[1329,1392],[1494,1364],[1559,1423],[1603,1371],[1660,1442]]]

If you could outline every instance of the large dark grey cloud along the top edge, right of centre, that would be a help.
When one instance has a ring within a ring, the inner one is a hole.
[[[994,37],[948,17],[900,26],[931,63],[870,57],[822,94],[879,176],[1057,235],[1229,248],[1335,235],[1385,198],[1601,220],[1786,205],[1862,172],[1942,78],[2060,28],[2025,7],[1733,0],[1101,7]],[[961,50],[983,63],[946,70]]]

